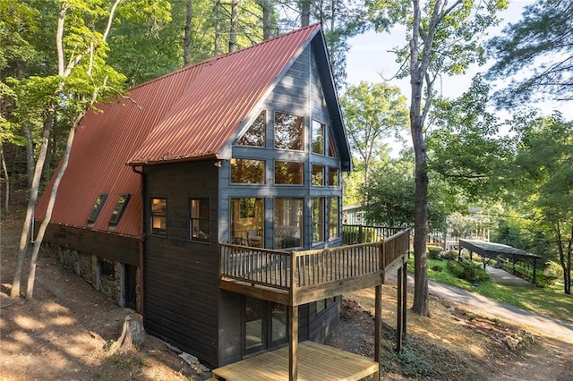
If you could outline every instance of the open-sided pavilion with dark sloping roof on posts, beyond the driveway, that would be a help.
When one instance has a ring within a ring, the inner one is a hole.
[[[542,259],[535,254],[528,253],[525,250],[517,249],[508,245],[494,242],[483,242],[483,241],[470,241],[470,240],[459,240],[459,252],[458,257],[461,257],[462,249],[469,250],[469,258],[472,259],[472,254],[477,253],[483,258],[483,267],[492,258],[504,258],[511,261],[513,264],[513,274],[516,274],[516,262],[517,260],[523,260],[529,262],[534,267],[533,277],[531,283],[535,284],[535,275],[537,272],[537,259]],[[487,258],[487,260],[485,259]]]

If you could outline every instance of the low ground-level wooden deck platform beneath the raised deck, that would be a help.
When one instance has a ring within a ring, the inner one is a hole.
[[[378,371],[378,362],[355,353],[313,342],[298,344],[299,380],[358,380]],[[287,380],[288,347],[268,351],[214,369],[214,377],[227,381]]]

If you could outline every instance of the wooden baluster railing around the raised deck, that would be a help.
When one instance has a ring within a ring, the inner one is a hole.
[[[221,243],[220,275],[282,290],[344,283],[380,274],[408,252],[409,239],[404,230],[383,241],[293,252]]]

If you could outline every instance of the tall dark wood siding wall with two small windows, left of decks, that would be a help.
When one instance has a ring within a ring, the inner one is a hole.
[[[218,365],[218,167],[145,167],[144,318],[151,334]],[[150,234],[150,198],[167,199],[167,235]],[[210,242],[189,240],[189,200],[210,199]]]

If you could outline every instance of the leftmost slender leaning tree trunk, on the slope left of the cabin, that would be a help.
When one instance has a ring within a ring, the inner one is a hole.
[[[16,270],[14,272],[12,290],[10,291],[10,296],[12,298],[20,297],[21,267],[24,263],[26,251],[28,250],[30,234],[33,234],[33,232],[30,232],[30,228],[32,219],[34,218],[34,207],[36,207],[36,202],[38,201],[39,182],[42,178],[42,170],[44,168],[44,162],[46,161],[47,145],[50,140],[50,132],[54,126],[54,114],[55,111],[53,108],[51,108],[47,113],[46,120],[44,121],[44,134],[42,136],[42,144],[39,148],[38,160],[36,160],[36,166],[34,168],[34,176],[32,178],[32,185],[30,187],[30,198],[28,199],[26,217],[24,218],[24,224],[21,229],[18,259],[16,262]]]

